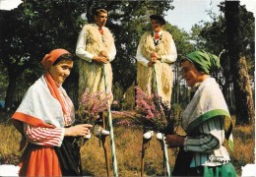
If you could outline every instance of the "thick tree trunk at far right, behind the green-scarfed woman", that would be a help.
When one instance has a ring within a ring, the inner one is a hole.
[[[225,1],[225,19],[228,57],[235,97],[236,124],[251,124],[254,118],[254,106],[246,60],[242,56],[239,1]]]

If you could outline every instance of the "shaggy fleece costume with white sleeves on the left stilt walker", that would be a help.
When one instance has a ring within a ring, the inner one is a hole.
[[[109,62],[106,64],[92,62],[93,57],[99,55],[101,51],[108,53]],[[85,89],[90,89],[92,92],[105,91],[105,86],[106,93],[112,94],[113,78],[110,62],[114,60],[115,54],[114,38],[109,29],[105,27],[98,29],[96,24],[84,26],[76,47],[76,55],[81,58],[79,61],[79,97]]]

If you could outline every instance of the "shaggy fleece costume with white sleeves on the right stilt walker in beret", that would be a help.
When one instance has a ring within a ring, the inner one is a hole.
[[[158,77],[158,90],[162,101],[170,106],[173,72],[171,64],[176,61],[177,52],[172,36],[169,32],[161,30],[159,36],[156,32],[146,31],[140,40],[137,59],[137,84],[145,92],[156,92],[156,77]],[[161,60],[155,63],[156,74],[153,67],[148,67],[151,53],[157,52]]]

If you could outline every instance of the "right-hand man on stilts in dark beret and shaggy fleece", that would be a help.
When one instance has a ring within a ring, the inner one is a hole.
[[[171,34],[162,29],[165,20],[160,15],[150,16],[152,31],[146,31],[138,45],[136,59],[137,84],[138,87],[149,95],[157,93],[161,101],[170,108],[171,89],[173,72],[171,64],[176,61],[177,52]],[[148,148],[149,141],[154,135],[153,130],[144,128],[143,148],[142,148],[142,176],[144,172],[144,155]],[[157,139],[161,141],[164,151],[164,160],[168,168],[167,151],[163,143],[162,133],[157,134]],[[169,170],[169,169],[167,169]]]

